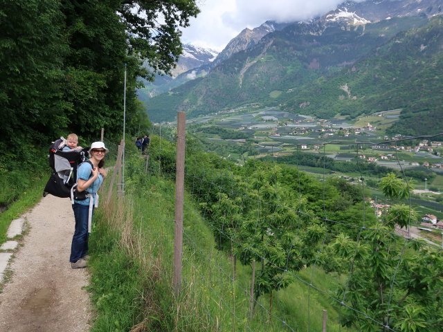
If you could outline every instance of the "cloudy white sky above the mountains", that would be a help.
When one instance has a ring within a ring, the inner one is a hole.
[[[196,0],[201,10],[183,30],[183,43],[221,51],[244,28],[265,21],[311,19],[333,10],[344,0]],[[363,0],[360,0],[363,1]]]

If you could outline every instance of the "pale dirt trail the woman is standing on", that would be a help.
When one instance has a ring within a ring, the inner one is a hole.
[[[91,310],[87,268],[69,263],[74,215],[69,199],[48,195],[24,214],[28,234],[0,294],[0,332],[85,332]]]

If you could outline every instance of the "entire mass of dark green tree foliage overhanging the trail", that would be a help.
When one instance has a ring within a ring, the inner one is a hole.
[[[127,132],[146,132],[137,78],[168,73],[181,53],[180,28],[198,12],[195,0],[1,0],[3,165],[23,162],[19,149],[30,138],[41,148],[69,132],[96,140],[105,128],[118,140],[125,69]]]

